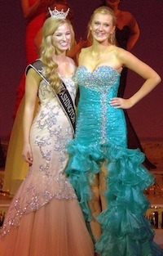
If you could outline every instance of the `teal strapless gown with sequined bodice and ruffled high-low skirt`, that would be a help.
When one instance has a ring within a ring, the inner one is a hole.
[[[68,143],[70,159],[65,172],[89,225],[93,219],[88,204],[93,198],[90,186],[105,164],[106,209],[97,217],[102,235],[95,244],[100,256],[161,255],[143,215],[150,205],[143,190],[153,184],[154,177],[142,164],[144,154],[127,148],[123,110],[108,103],[117,97],[119,81],[120,74],[108,65],[98,66],[92,73],[85,66],[78,67],[77,129]]]

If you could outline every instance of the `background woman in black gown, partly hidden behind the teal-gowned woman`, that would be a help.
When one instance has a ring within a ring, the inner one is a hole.
[[[117,46],[126,49],[127,51],[132,51],[135,43],[139,39],[139,25],[135,20],[134,16],[129,11],[122,11],[120,9],[121,1],[120,0],[104,0],[104,5],[110,7],[117,18],[116,24],[116,41]],[[118,88],[117,96],[124,97],[126,86],[127,86],[127,68],[124,68],[121,71],[120,86]],[[127,143],[130,149],[139,148],[143,153],[143,147],[139,141],[139,137],[136,134],[133,124],[130,121],[130,116],[127,113],[127,110],[124,110],[126,117],[126,127],[127,127]],[[152,164],[145,155],[143,164],[146,168],[152,169],[156,168],[156,165]]]

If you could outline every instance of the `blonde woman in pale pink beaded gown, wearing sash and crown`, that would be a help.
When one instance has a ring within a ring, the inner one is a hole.
[[[73,138],[73,129],[57,93],[68,92],[74,103],[76,67],[66,56],[73,39],[68,20],[48,18],[43,25],[41,59],[26,71],[22,155],[29,172],[3,223],[1,256],[94,256],[77,196],[64,175],[66,144]],[[37,69],[40,62],[42,67]],[[40,106],[33,120],[37,95]]]

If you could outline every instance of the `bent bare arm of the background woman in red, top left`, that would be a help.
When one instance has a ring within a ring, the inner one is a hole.
[[[29,6],[29,0],[21,0],[21,7],[23,10],[24,18],[31,18],[36,13],[41,2],[41,0],[37,0],[32,6]]]

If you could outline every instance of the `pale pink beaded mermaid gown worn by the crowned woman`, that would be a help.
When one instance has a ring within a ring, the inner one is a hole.
[[[73,101],[73,76],[63,78]],[[53,90],[42,81],[30,132],[33,165],[13,198],[1,230],[1,256],[94,256],[73,186],[64,175],[71,125]]]

